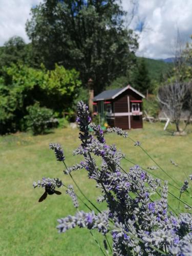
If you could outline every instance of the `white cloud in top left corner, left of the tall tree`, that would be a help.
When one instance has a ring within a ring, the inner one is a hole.
[[[40,0],[0,0],[0,46],[14,35],[29,42],[25,23],[30,9],[39,3]]]

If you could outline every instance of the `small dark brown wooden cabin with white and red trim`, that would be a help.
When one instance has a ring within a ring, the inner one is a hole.
[[[94,115],[105,117],[108,124],[123,130],[143,127],[143,94],[131,86],[104,91],[93,98]]]

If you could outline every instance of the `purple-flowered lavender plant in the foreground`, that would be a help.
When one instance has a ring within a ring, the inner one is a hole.
[[[90,211],[79,210],[77,196],[73,186],[69,185],[67,194],[71,196],[77,213],[75,216],[60,218],[58,231],[66,232],[75,227],[97,229],[103,235],[105,249],[110,247],[107,235],[112,237],[112,253],[118,256],[192,255],[191,214],[176,215],[170,211],[167,202],[168,182],[162,184],[160,179],[153,178],[138,165],[124,170],[121,167],[124,155],[117,150],[116,145],[106,144],[99,125],[90,124],[88,108],[82,101],[77,106],[77,122],[81,144],[74,150],[73,155],[81,155],[83,161],[67,167],[61,146],[50,144],[50,148],[55,151],[56,159],[65,164],[64,174],[71,176],[84,200],[91,203],[91,206],[80,199]],[[93,134],[89,132],[89,125],[94,131]],[[108,132],[127,137],[127,133],[119,128],[108,129]],[[135,145],[140,146],[141,143],[137,142]],[[96,164],[97,157],[101,158],[100,165]],[[157,167],[151,167],[155,168]],[[88,177],[95,180],[101,192],[97,202],[106,202],[106,210],[100,211],[79,188],[72,174],[80,169],[86,169]],[[190,180],[191,177],[192,175]],[[56,186],[62,185],[58,179],[49,178],[33,184],[34,187],[47,187],[53,193]],[[188,186],[185,181],[180,193],[185,193]],[[153,200],[154,194],[157,195],[157,200]],[[177,199],[181,201],[180,198]],[[105,255],[102,249],[101,251]]]

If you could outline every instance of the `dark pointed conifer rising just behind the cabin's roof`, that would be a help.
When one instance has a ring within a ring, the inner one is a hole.
[[[144,58],[139,61],[138,67],[133,73],[132,83],[133,87],[143,94],[146,94],[146,91],[151,89],[151,80],[148,75]]]

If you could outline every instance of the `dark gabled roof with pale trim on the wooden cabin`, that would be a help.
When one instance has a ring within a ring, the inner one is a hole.
[[[103,91],[102,93],[99,93],[98,95],[96,95],[96,96],[93,98],[93,101],[105,100],[105,99],[114,99],[114,98],[116,98],[119,94],[121,94],[121,93],[123,93],[124,91],[126,91],[127,89],[131,89],[132,91],[134,91],[135,93],[137,93],[138,95],[140,95],[142,98],[145,98],[145,96],[144,96],[143,94],[139,93],[137,90],[135,90],[135,89],[132,88],[131,86],[126,86],[126,87],[120,88],[120,89]]]

